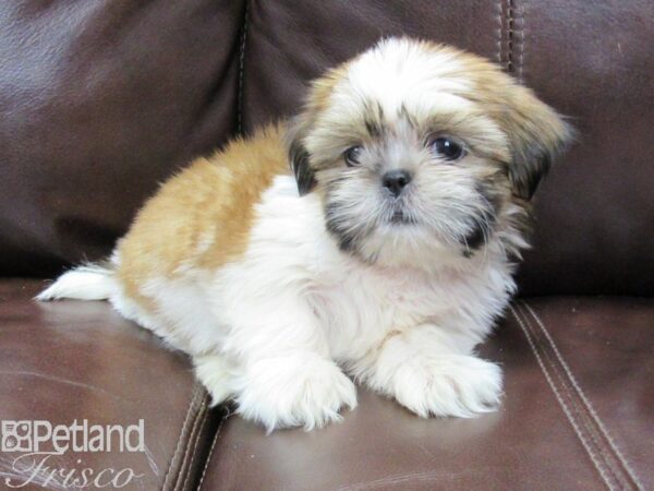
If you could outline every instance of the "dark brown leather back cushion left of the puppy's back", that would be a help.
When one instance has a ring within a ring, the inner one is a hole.
[[[0,272],[108,254],[158,182],[232,133],[241,0],[0,8]]]

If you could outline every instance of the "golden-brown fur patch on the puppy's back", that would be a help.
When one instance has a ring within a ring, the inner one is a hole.
[[[168,180],[136,215],[118,246],[118,277],[143,307],[143,285],[189,271],[216,270],[247,248],[255,205],[276,176],[289,173],[281,127],[235,140]]]

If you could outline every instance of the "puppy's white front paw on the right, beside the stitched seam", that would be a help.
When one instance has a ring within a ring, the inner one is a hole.
[[[417,357],[398,367],[389,382],[396,399],[423,418],[470,418],[496,409],[501,397],[499,367],[472,356]]]

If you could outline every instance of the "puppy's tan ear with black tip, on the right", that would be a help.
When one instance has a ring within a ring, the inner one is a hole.
[[[511,145],[509,179],[513,194],[531,200],[573,130],[526,87],[513,86],[502,117]]]

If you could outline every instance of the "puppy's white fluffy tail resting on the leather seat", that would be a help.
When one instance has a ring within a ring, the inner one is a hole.
[[[113,294],[114,286],[113,271],[98,264],[87,264],[61,275],[57,282],[38,294],[35,300],[106,300]]]

